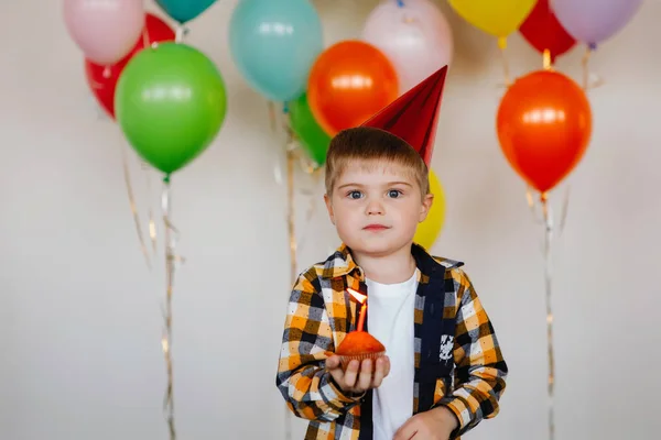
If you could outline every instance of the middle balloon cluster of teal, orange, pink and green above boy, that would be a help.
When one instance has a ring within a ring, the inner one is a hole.
[[[242,0],[229,34],[238,69],[254,90],[283,105],[316,165],[333,135],[449,64],[453,52],[451,28],[430,0],[383,2],[360,38],[326,48],[308,0]]]

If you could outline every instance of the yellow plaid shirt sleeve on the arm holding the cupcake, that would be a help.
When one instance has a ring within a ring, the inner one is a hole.
[[[290,296],[277,386],[289,408],[308,420],[333,421],[360,403],[344,394],[325,371],[333,332],[316,272],[302,274]]]

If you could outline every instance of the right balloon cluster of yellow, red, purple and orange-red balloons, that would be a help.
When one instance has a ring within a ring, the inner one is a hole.
[[[592,136],[592,110],[582,88],[553,63],[577,42],[594,51],[619,32],[642,0],[449,0],[466,21],[499,38],[517,30],[544,55],[544,68],[516,80],[497,114],[501,150],[512,168],[541,193],[579,163]]]

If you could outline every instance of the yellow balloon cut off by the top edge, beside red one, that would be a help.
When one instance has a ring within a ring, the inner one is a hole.
[[[449,0],[468,23],[505,38],[525,21],[538,0]]]

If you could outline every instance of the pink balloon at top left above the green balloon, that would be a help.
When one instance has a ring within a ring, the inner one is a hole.
[[[64,0],[64,21],[85,57],[104,66],[128,55],[144,28],[143,0]]]

